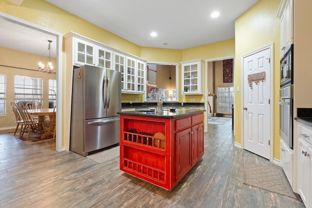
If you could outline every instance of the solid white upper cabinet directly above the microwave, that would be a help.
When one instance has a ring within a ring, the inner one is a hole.
[[[293,0],[282,0],[277,17],[280,18],[280,57],[284,57],[293,43]]]

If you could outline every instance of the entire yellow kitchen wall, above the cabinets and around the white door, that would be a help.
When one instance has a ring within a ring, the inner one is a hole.
[[[181,62],[198,58],[212,59],[217,57],[227,57],[235,54],[234,84],[236,86],[241,86],[240,57],[250,51],[262,47],[263,45],[274,42],[275,84],[273,103],[274,109],[278,110],[278,106],[275,103],[278,99],[279,89],[279,70],[276,70],[279,69],[279,50],[276,50],[279,48],[279,19],[276,18],[279,2],[280,0],[260,0],[245,14],[236,19],[235,39],[233,38],[185,50],[139,47],[134,43],[120,38],[70,13],[67,13],[66,11],[55,7],[44,0],[24,0],[20,6],[13,5],[4,0],[0,4],[0,12],[4,12],[17,18],[58,31],[63,35],[73,31],[119,50],[142,57],[148,61]],[[64,47],[63,52],[65,53]],[[63,60],[65,60],[65,58],[63,58]],[[64,67],[63,70],[65,70]],[[181,73],[180,65],[179,73]],[[68,81],[69,80],[63,80],[63,85],[70,83]],[[180,80],[179,87],[181,87]],[[179,95],[179,101],[186,102],[189,100],[190,96],[191,95]],[[144,99],[142,95],[122,95],[122,100],[126,102],[132,101],[133,98],[136,97],[139,98],[140,101],[143,101]],[[192,95],[192,97],[195,98],[195,102],[200,102],[201,99],[204,98],[203,95]],[[240,105],[240,101],[240,93],[235,93],[236,115],[241,115],[240,109],[242,109],[242,106]],[[274,111],[274,138],[279,138],[279,113],[277,110]],[[235,116],[235,123],[241,123],[240,116]],[[240,125],[235,125],[235,141],[237,143],[241,143],[241,129],[239,126]],[[274,158],[279,158],[279,143],[276,141],[277,139],[274,139],[273,156]]]

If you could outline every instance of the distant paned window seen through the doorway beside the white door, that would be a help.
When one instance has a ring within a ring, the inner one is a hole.
[[[234,87],[218,87],[217,112],[232,113],[234,104]]]

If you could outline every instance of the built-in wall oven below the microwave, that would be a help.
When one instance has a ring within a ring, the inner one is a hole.
[[[293,85],[280,89],[280,129],[279,135],[292,148],[293,129]]]

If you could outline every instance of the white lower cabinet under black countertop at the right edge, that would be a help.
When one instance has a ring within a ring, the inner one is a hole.
[[[298,193],[307,208],[312,208],[312,129],[298,125],[298,160],[299,160],[299,175],[298,175]]]

